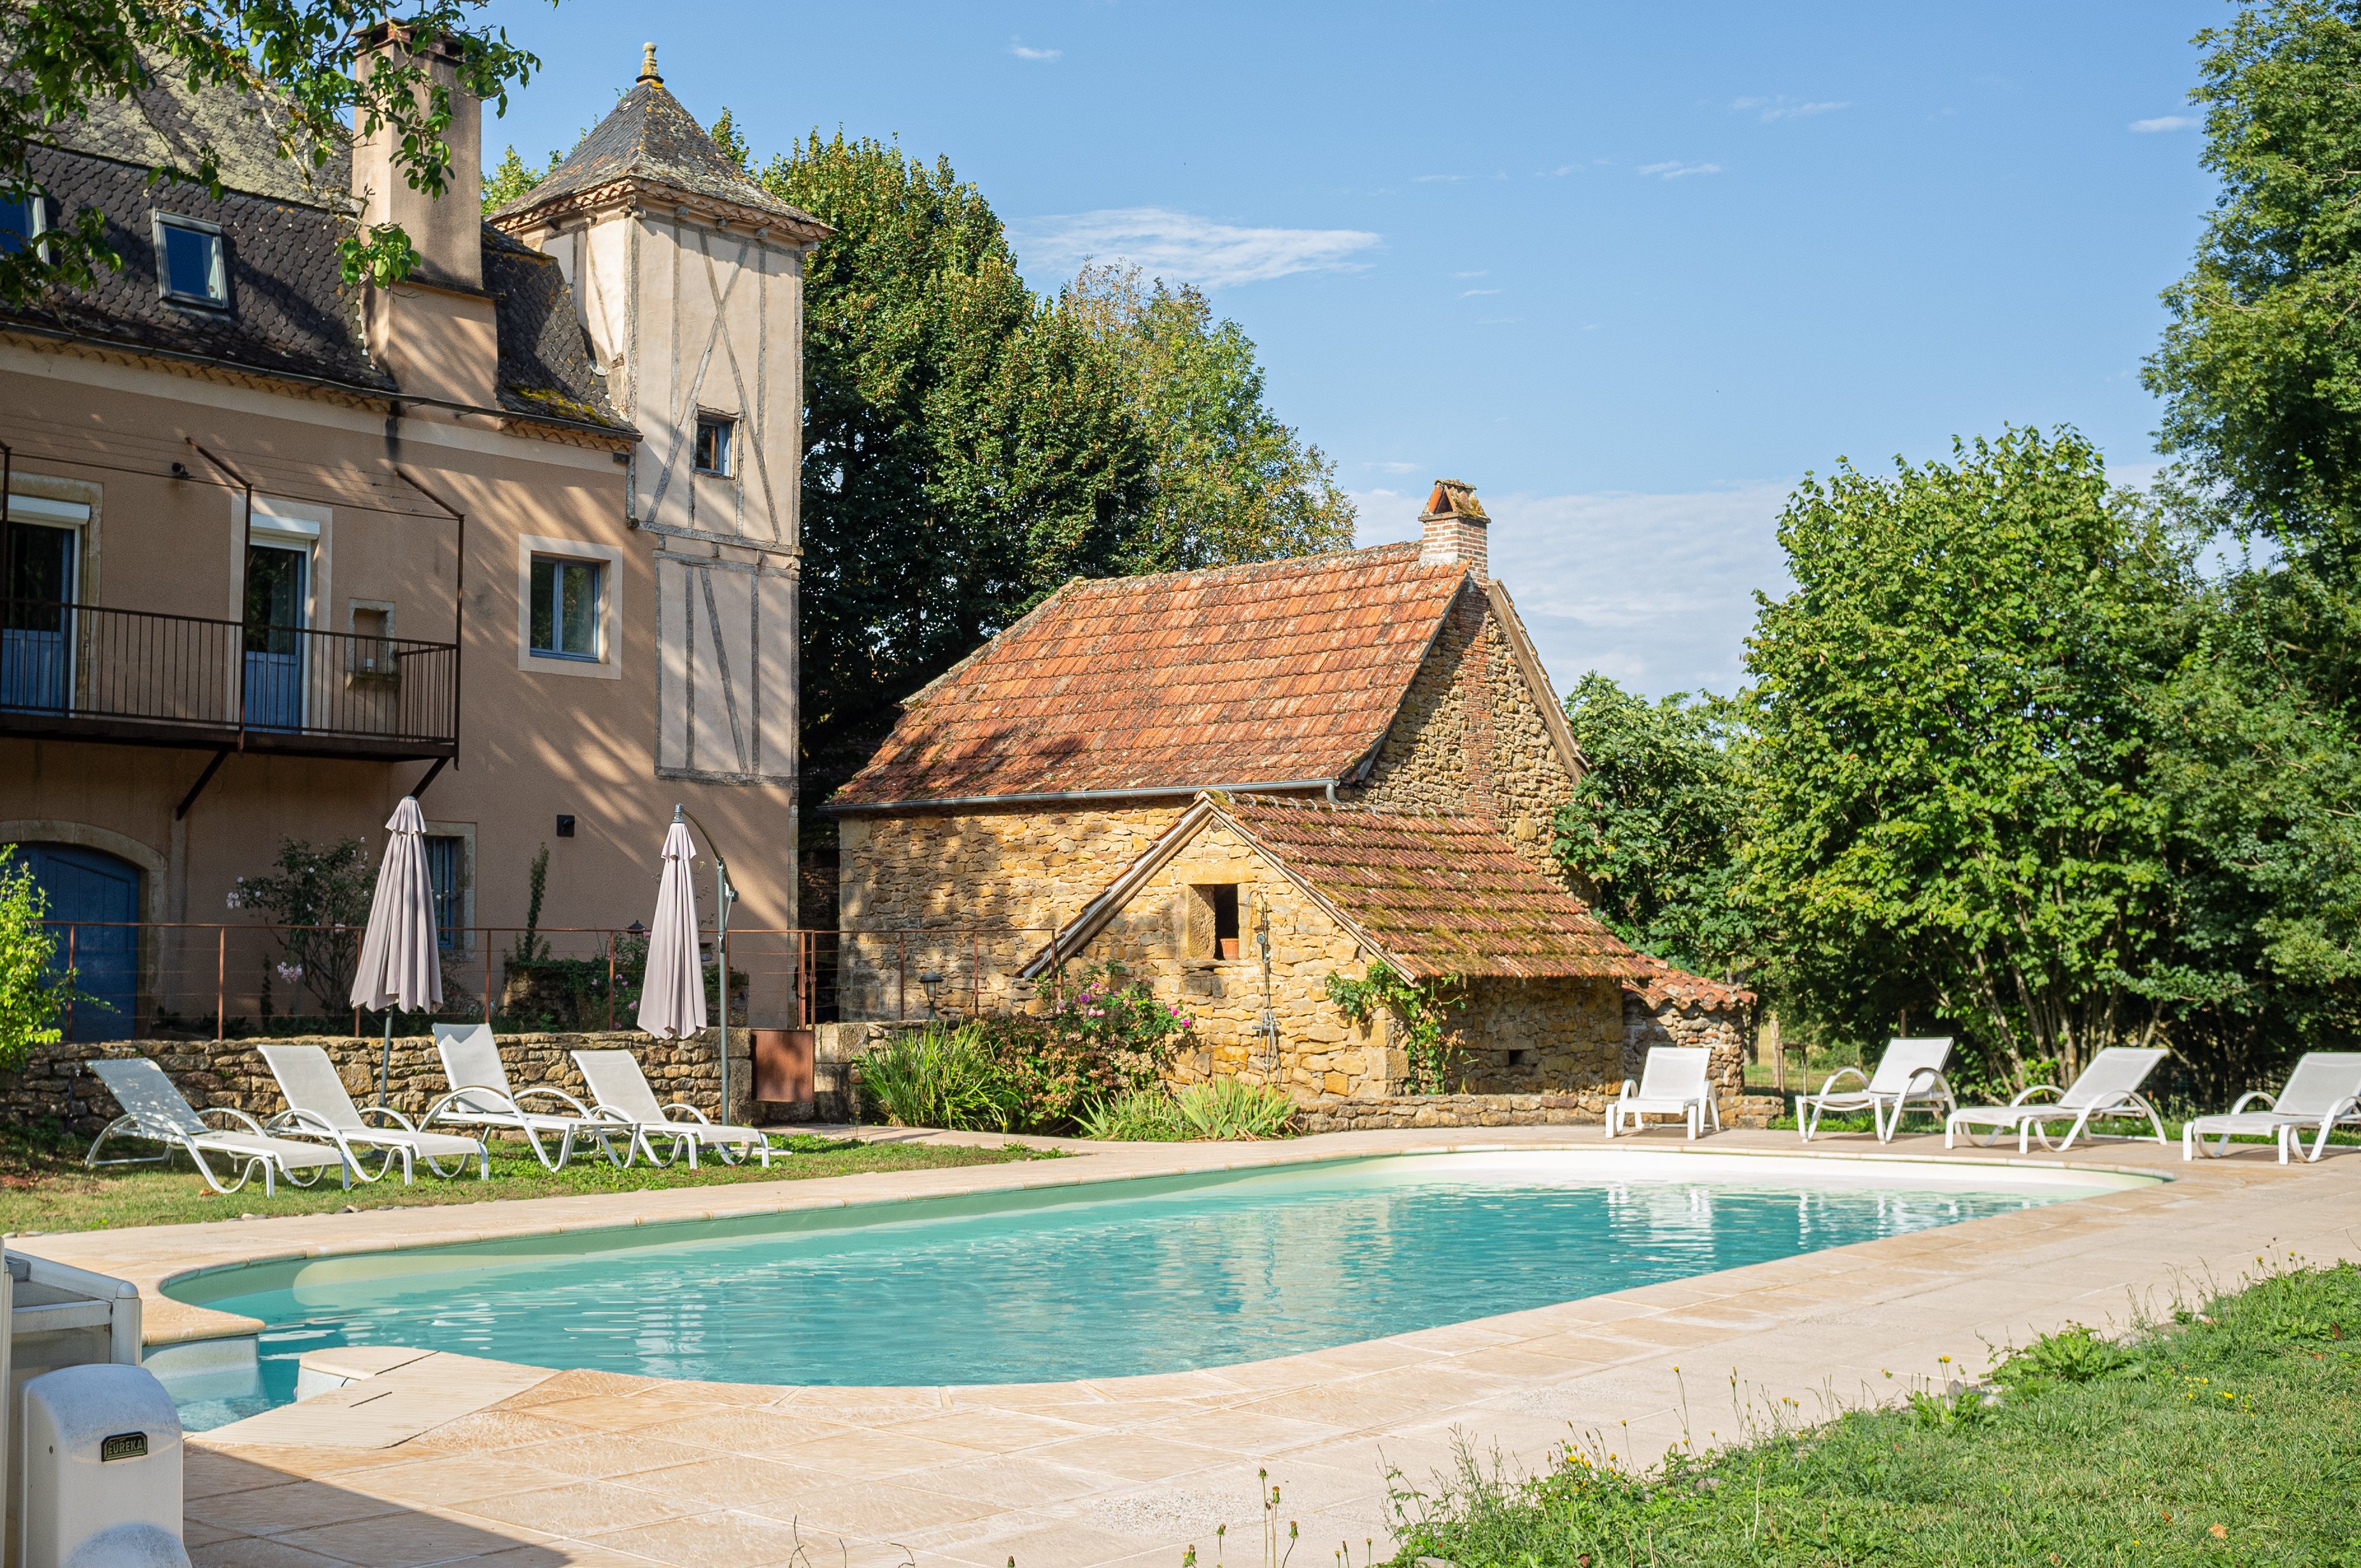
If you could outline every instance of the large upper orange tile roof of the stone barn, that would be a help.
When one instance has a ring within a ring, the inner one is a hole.
[[[1072,581],[918,692],[831,805],[1336,779],[1461,581],[1414,543]]]

